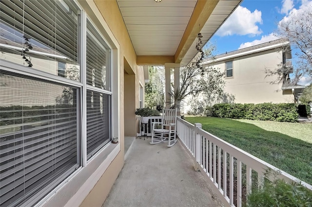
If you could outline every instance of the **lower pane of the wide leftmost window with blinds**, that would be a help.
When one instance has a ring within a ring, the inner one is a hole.
[[[0,73],[0,206],[20,205],[74,172],[77,131],[77,89]]]

